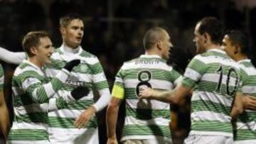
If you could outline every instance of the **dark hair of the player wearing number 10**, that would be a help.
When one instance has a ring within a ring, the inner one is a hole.
[[[215,17],[205,17],[198,23],[201,23],[198,32],[208,33],[213,43],[221,44],[224,37],[223,24]]]

